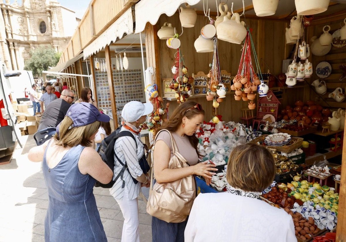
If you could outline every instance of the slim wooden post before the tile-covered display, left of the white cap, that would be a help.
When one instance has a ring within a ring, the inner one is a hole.
[[[107,78],[108,78],[109,93],[110,93],[110,100],[111,100],[111,107],[112,107],[113,124],[114,124],[114,130],[116,130],[119,125],[118,125],[117,105],[115,103],[114,84],[113,84],[113,67],[112,67],[112,61],[110,58],[109,45],[104,47],[104,52],[106,55],[106,69],[107,69]]]

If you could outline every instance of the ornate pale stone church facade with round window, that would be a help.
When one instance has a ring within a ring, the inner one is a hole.
[[[0,3],[0,58],[8,70],[24,69],[30,50],[41,45],[62,52],[80,21],[55,1],[5,1]]]

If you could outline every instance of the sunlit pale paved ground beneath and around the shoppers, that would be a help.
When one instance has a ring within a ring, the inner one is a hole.
[[[29,149],[36,146],[33,135],[20,139],[23,148],[17,146],[11,163],[0,165],[0,242],[44,241],[48,195],[42,162],[27,158]],[[94,188],[94,194],[108,241],[121,241],[124,218],[119,205],[108,189]],[[140,240],[151,241],[151,216],[145,207],[140,200]]]

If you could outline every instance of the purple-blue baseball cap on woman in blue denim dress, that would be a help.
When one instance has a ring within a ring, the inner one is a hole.
[[[66,116],[72,119],[73,127],[85,126],[95,121],[109,122],[110,120],[108,115],[101,114],[93,104],[86,102],[71,105]]]

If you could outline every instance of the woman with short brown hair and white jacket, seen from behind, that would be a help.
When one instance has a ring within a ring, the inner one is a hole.
[[[197,196],[185,228],[185,242],[297,241],[291,215],[258,196],[271,185],[275,171],[273,155],[265,147],[251,143],[236,146],[227,164],[230,187],[223,193]]]

